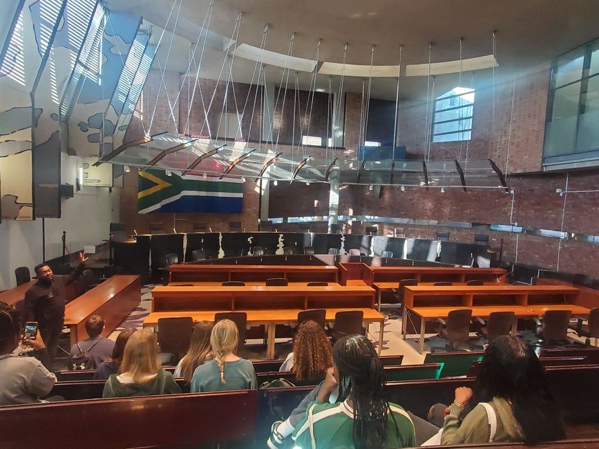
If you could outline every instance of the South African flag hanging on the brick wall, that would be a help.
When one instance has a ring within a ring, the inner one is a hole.
[[[241,213],[243,183],[198,175],[167,176],[162,170],[138,171],[139,213]]]

